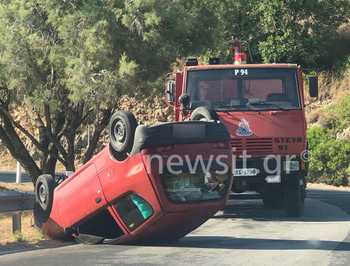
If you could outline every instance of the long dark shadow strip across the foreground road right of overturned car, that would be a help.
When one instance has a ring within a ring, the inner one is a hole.
[[[327,240],[236,238],[226,236],[185,236],[178,242],[152,246],[198,247],[204,249],[350,251],[349,242]]]

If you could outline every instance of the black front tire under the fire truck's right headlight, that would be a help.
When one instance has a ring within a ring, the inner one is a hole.
[[[302,178],[288,178],[284,181],[285,208],[288,217],[300,217],[304,212],[305,187]]]

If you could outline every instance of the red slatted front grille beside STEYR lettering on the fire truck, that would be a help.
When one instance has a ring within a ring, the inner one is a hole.
[[[233,154],[241,154],[246,150],[247,154],[272,152],[272,138],[232,138],[231,147]]]

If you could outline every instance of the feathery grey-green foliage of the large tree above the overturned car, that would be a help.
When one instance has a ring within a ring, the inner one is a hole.
[[[33,106],[108,106],[212,45],[205,1],[15,0],[0,4],[0,82]]]

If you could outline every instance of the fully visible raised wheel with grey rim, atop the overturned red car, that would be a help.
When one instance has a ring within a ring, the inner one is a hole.
[[[114,113],[108,129],[113,149],[120,153],[131,152],[137,126],[136,118],[132,113],[128,111]]]

